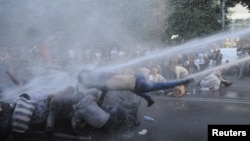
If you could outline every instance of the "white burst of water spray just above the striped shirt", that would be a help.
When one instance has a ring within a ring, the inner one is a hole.
[[[29,94],[31,98],[51,94],[56,95],[67,86],[74,86],[76,84],[76,77],[72,75],[72,73],[63,71],[47,72],[42,76],[33,78],[25,85],[5,89],[2,94],[2,100],[11,102],[23,93]]]

